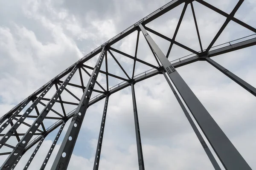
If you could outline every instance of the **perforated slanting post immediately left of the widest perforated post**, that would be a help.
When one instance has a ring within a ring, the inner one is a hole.
[[[40,115],[37,119],[35,119],[35,122],[29,127],[29,130],[25,133],[23,138],[20,140],[20,142],[17,144],[14,150],[12,150],[12,153],[8,156],[6,161],[1,166],[1,170],[9,170],[10,167],[12,167],[15,164],[15,161],[19,158],[19,156],[22,155],[24,148],[26,147],[29,140],[34,135],[35,131],[38,129],[38,126],[43,122],[44,118],[49,113],[50,109],[58,99],[58,97],[61,95],[62,91],[64,91],[64,88],[67,86],[67,83],[70,81],[70,79],[73,77],[73,75],[76,73],[77,66],[75,65],[73,68],[71,68],[71,72],[68,75],[68,77],[65,79],[65,81],[61,84],[61,86],[58,88],[58,90],[55,92],[55,94],[52,96],[52,99],[49,100],[47,105],[44,107],[43,111],[41,111]],[[53,85],[53,82],[50,84]],[[46,91],[48,91],[48,88],[46,88]],[[39,96],[41,99],[43,96]],[[37,99],[36,101],[38,101]],[[33,106],[33,108],[35,105]],[[32,107],[30,109],[33,109]],[[29,112],[25,112],[24,114],[28,114]],[[22,117],[20,117],[23,119]],[[20,122],[16,122],[20,123]]]

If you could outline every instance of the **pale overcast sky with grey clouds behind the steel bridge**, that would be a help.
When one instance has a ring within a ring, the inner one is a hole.
[[[168,2],[168,0],[0,1],[0,116],[81,57]],[[207,0],[207,2],[230,13],[238,0]],[[183,5],[177,6],[148,23],[147,26],[172,38]],[[197,2],[193,5],[205,49],[226,18]],[[254,28],[256,28],[255,16],[255,0],[245,0],[235,14],[239,20]],[[251,34],[252,31],[231,21],[214,45]],[[150,35],[166,54],[170,43],[153,34]],[[117,42],[113,47],[134,56],[136,36],[137,31]],[[190,5],[187,7],[175,40],[195,51],[200,50]],[[255,53],[256,48],[249,47],[212,59],[256,87]],[[133,60],[115,52],[113,54],[131,77]],[[173,45],[169,60],[188,54],[191,53]],[[98,55],[85,64],[94,67],[97,57]],[[137,57],[157,65],[142,34]],[[105,71],[105,62],[101,69]],[[126,78],[110,55],[108,55],[108,69],[110,73]],[[149,69],[151,68],[137,63],[135,74]],[[250,167],[256,169],[255,96],[204,61],[177,68],[177,71]],[[82,74],[86,85],[89,77],[84,72]],[[80,85],[78,75],[77,72],[70,82]],[[97,81],[106,87],[103,74],[99,75]],[[110,78],[109,81],[110,87],[122,82],[114,78]],[[100,90],[99,87],[95,88]],[[51,98],[54,89],[55,87],[52,87],[49,91],[48,98]],[[81,89],[71,87],[69,89],[81,97]],[[213,170],[163,75],[135,84],[135,92],[145,169]],[[62,98],[66,97],[66,101],[78,103],[68,95],[64,92],[61,94]],[[93,92],[93,95],[97,93]],[[88,108],[68,169],[92,169],[103,105],[104,99]],[[60,105],[56,103],[54,107],[61,113]],[[43,107],[40,106],[40,109],[42,110]],[[74,106],[66,106],[67,113],[73,109]],[[51,114],[58,117],[55,113]],[[32,123],[33,120],[26,119],[26,122]],[[44,121],[46,127],[53,123],[53,120]],[[68,123],[64,132],[67,127]],[[26,126],[21,125],[17,131],[24,133],[27,129]],[[58,129],[47,136],[29,170],[41,167],[57,131]],[[64,133],[52,153],[47,170],[57,154],[63,136]],[[7,143],[15,146],[17,140],[11,137]],[[33,150],[34,147],[23,156],[17,164],[17,170],[23,169]],[[10,151],[12,150],[8,147],[2,147],[0,150],[0,152]],[[0,156],[0,164],[6,157]],[[130,86],[112,94],[109,98],[99,169],[138,169]]]

